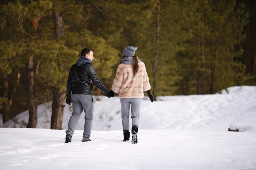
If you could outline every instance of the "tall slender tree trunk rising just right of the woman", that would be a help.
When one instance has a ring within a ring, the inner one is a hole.
[[[157,2],[157,35],[156,35],[156,47],[155,47],[155,61],[153,65],[153,76],[154,76],[154,84],[153,84],[153,96],[154,100],[157,99],[156,89],[157,89],[157,55],[158,55],[158,46],[159,46],[159,29],[160,29],[160,0]]]

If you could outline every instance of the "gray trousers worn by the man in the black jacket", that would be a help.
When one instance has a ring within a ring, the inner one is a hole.
[[[75,94],[72,95],[72,116],[68,122],[66,134],[71,136],[74,134],[76,124],[81,116],[83,110],[85,113],[85,123],[83,128],[83,140],[89,140],[92,129],[93,119],[93,98],[91,95]]]

